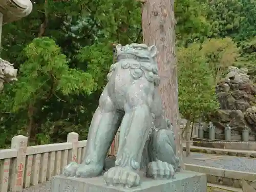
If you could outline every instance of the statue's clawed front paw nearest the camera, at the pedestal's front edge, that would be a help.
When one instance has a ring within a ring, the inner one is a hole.
[[[104,173],[104,179],[109,186],[123,185],[130,188],[140,184],[140,176],[130,167],[112,167]]]

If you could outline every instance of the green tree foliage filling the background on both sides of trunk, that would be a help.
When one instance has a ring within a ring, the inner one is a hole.
[[[29,16],[5,25],[1,57],[19,71],[18,81],[1,93],[0,147],[16,134],[28,135],[30,144],[66,141],[71,131],[86,139],[113,63],[112,44],[142,42],[141,6],[128,0],[40,0]],[[255,79],[255,15],[255,1],[175,1],[184,116],[215,109],[211,86],[233,63],[248,67]]]

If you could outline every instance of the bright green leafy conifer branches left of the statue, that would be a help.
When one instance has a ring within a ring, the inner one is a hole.
[[[24,55],[26,61],[19,69],[19,81],[12,89],[13,111],[26,109],[37,100],[48,100],[56,92],[90,94],[95,88],[92,75],[69,69],[66,56],[48,37],[34,39],[25,48]]]

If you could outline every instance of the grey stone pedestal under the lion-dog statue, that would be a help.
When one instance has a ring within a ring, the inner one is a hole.
[[[141,176],[141,185],[124,188],[106,186],[103,177],[88,179],[55,176],[51,182],[51,192],[206,192],[206,175],[183,171],[172,180],[154,180]]]

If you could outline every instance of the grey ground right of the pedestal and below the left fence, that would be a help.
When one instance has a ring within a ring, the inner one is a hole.
[[[224,168],[229,170],[239,170],[241,172],[256,173],[256,159],[253,159],[253,158],[191,153],[189,157],[185,157],[183,160],[184,160],[184,163],[189,163],[189,164]],[[23,189],[23,192],[49,192],[49,191],[50,191],[50,182],[39,184],[35,187]]]

